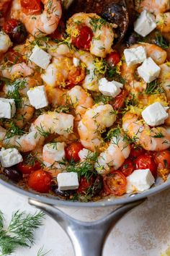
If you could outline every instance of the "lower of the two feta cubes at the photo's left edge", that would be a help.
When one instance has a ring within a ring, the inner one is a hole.
[[[22,155],[19,153],[17,148],[2,148],[0,151],[1,166],[10,167],[23,161]]]

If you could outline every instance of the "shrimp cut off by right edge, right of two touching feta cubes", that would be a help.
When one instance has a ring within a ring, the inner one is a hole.
[[[169,62],[161,64],[161,73],[159,74],[159,81],[161,82],[161,86],[166,91],[166,98],[170,101],[170,66]]]

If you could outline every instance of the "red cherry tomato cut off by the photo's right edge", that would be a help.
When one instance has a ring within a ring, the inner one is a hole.
[[[159,169],[170,169],[170,151],[163,150],[157,152],[154,158]]]

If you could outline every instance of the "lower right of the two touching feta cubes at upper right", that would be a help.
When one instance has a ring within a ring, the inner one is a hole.
[[[138,74],[145,82],[152,82],[161,72],[161,68],[149,57],[138,67]]]

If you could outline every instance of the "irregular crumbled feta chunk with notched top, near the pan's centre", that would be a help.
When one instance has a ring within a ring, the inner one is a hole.
[[[112,81],[109,82],[106,78],[99,80],[99,91],[105,96],[116,97],[120,94],[123,85],[120,82]]]

